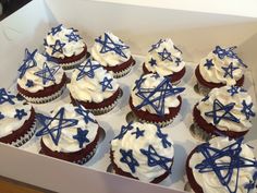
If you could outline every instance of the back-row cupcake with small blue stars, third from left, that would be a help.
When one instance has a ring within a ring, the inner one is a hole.
[[[143,71],[145,74],[158,73],[169,79],[172,84],[178,84],[185,74],[182,51],[171,39],[160,39],[148,51]]]

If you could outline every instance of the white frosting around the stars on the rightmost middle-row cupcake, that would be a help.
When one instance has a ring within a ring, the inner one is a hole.
[[[232,94],[230,91],[232,88],[235,88],[238,93]],[[218,99],[223,106],[227,106],[231,102],[234,102],[234,107],[230,110],[230,112],[240,120],[240,123],[227,120],[227,119],[221,119],[220,122],[216,125],[218,130],[221,131],[235,131],[235,132],[243,132],[249,130],[252,128],[250,119],[247,119],[246,114],[242,112],[243,110],[243,101],[247,105],[252,104],[252,97],[249,94],[244,91],[241,87],[236,86],[223,86],[220,88],[213,88],[208,97],[204,100],[200,100],[198,106],[196,107],[200,111],[200,116],[208,122],[215,125],[213,118],[206,116],[206,112],[212,111],[213,110],[213,102],[216,99]],[[252,108],[254,111],[254,107]],[[220,110],[217,112],[218,116],[222,116],[224,113],[224,110]]]

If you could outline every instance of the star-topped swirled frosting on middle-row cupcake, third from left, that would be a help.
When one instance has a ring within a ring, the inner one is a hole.
[[[163,116],[169,108],[180,106],[179,93],[184,88],[176,87],[158,74],[145,74],[135,82],[131,97],[133,106],[150,113]]]

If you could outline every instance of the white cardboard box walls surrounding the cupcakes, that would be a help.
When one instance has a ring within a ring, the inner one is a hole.
[[[131,46],[133,53],[142,56],[159,38],[171,37],[183,50],[185,60],[195,63],[216,45],[236,45],[238,55],[249,65],[248,73],[252,71],[254,77],[250,80],[249,73],[247,82],[252,95],[257,94],[257,77],[254,75],[257,72],[257,19],[253,12],[248,14],[252,17],[246,17],[233,10],[228,15],[222,14],[225,13],[224,9],[219,14],[213,9],[209,10],[211,13],[206,13],[206,4],[201,10],[191,10],[187,5],[187,11],[182,11],[180,3],[174,7],[170,3],[163,8],[160,3],[156,5],[156,1],[152,7],[139,2],[135,1],[136,5],[86,0],[34,0],[28,3],[0,22],[0,87],[11,88],[15,85],[16,69],[23,59],[24,49],[41,48],[42,38],[49,28],[63,23],[78,28],[88,47],[95,37],[105,31],[112,31]],[[257,147],[256,125],[255,119],[246,141]],[[174,135],[179,137],[180,133]],[[185,146],[188,149],[195,145],[193,141],[187,143]],[[94,166],[77,166],[4,144],[0,144],[0,155],[1,176],[57,192],[179,193],[183,190],[180,182],[172,182],[171,185],[143,183]],[[184,170],[184,167],[181,169]]]

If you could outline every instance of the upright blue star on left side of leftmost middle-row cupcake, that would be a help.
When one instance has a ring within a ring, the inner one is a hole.
[[[36,52],[37,49],[35,49],[32,53],[28,51],[27,48],[25,49],[25,59],[23,60],[23,64],[17,70],[20,72],[20,79],[24,76],[28,69],[37,65],[37,62],[35,60]]]

